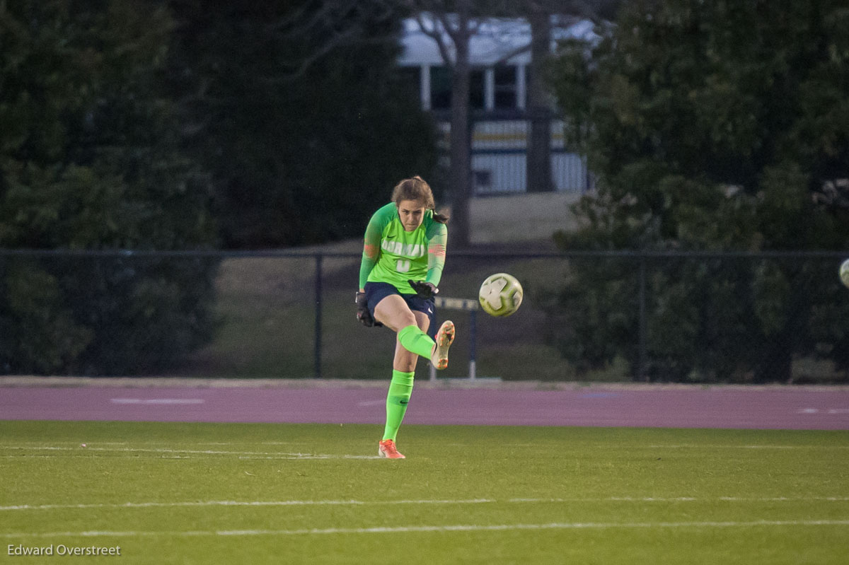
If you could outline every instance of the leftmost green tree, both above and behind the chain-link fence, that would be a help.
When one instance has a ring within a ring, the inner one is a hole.
[[[162,3],[0,3],[0,246],[215,242],[164,89],[172,28]],[[0,372],[156,371],[210,337],[215,271],[0,259]]]

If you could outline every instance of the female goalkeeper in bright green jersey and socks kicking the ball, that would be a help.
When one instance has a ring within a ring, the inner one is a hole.
[[[445,265],[447,217],[434,213],[433,193],[420,176],[399,182],[392,201],[374,213],[366,227],[357,319],[397,333],[392,380],[386,394],[386,426],[378,454],[404,459],[395,439],[410,393],[419,355],[437,369],[448,366],[453,322],[436,334],[434,295]],[[430,332],[430,333],[429,333]]]

